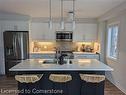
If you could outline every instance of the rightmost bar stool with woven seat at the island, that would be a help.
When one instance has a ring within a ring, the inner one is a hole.
[[[104,95],[104,75],[80,74],[81,95]]]

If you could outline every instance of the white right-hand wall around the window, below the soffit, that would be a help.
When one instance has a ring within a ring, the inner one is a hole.
[[[119,89],[126,93],[126,13],[109,19],[107,24],[119,22],[119,55],[116,61],[106,58],[107,64],[114,68],[113,72],[106,73],[107,78]]]

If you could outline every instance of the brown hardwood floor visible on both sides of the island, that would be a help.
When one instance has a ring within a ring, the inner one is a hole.
[[[0,95],[16,95],[13,92],[10,94],[2,94],[1,89],[17,90],[17,82],[12,77],[0,77]],[[117,87],[111,84],[108,80],[105,81],[105,95],[126,95],[122,93]]]

